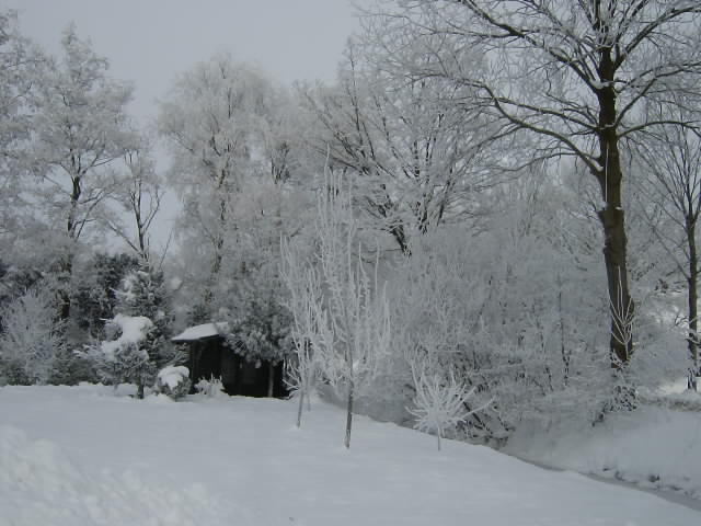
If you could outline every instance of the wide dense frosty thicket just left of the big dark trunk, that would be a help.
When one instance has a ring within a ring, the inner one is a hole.
[[[427,233],[392,278],[393,354],[417,350],[439,384],[452,374],[474,388],[468,412],[492,402],[467,418],[471,438],[503,442],[524,418],[594,421],[613,396],[597,267],[555,250],[533,220],[513,209],[486,232]]]

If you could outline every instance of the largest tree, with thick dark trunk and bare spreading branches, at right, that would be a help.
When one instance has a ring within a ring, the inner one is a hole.
[[[664,100],[670,90],[698,93],[699,14],[694,0],[417,0],[378,14],[387,25],[411,26],[415,54],[435,57],[428,65],[407,64],[417,78],[471,87],[474,99],[466,103],[483,105],[514,130],[539,137],[538,157],[573,157],[596,179],[613,363],[631,356],[632,339],[623,336],[616,319],[634,308],[623,139],[678,121],[646,118],[640,111],[645,101]],[[482,54],[481,65],[463,59],[474,49]]]

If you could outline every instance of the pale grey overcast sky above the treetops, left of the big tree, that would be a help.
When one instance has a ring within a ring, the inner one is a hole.
[[[174,75],[229,50],[284,82],[332,80],[358,22],[349,0],[5,0],[22,32],[60,50],[60,34],[78,33],[110,59],[112,76],[136,83],[131,110],[153,113]],[[368,0],[361,0],[367,4]]]

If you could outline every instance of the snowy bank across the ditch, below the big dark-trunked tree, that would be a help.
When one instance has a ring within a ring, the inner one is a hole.
[[[698,395],[693,395],[698,398]],[[701,499],[701,413],[641,407],[595,426],[524,425],[506,450],[559,469]]]

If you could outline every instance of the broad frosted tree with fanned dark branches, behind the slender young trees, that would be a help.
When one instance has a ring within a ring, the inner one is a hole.
[[[412,39],[404,28],[367,24],[336,84],[302,92],[313,116],[307,142],[327,169],[353,179],[357,206],[404,253],[415,233],[483,214],[508,159],[494,119],[464,104],[470,87],[406,70],[403,58],[433,60],[417,57]]]

